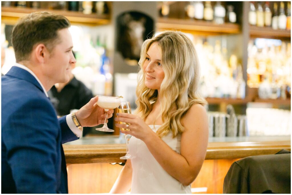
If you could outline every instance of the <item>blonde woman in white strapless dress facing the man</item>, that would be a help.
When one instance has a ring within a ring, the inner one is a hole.
[[[165,31],[142,45],[136,115],[119,113],[132,135],[127,160],[110,193],[191,193],[208,144],[208,121],[197,92],[199,62],[183,33]]]

